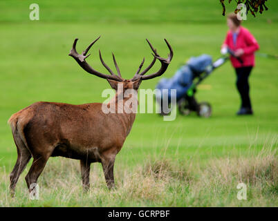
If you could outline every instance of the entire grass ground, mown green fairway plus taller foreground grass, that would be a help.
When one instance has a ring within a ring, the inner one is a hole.
[[[191,56],[220,56],[227,26],[214,1],[38,1],[40,20],[29,20],[33,1],[0,1],[0,206],[278,206],[278,61],[256,58],[250,77],[254,116],[237,117],[239,95],[228,62],[203,81],[197,99],[212,104],[209,119],[178,115],[165,122],[156,114],[138,114],[116,157],[117,189],[108,191],[100,164],[93,164],[91,190],[82,193],[75,160],[51,158],[39,177],[40,200],[29,200],[22,173],[15,198],[8,193],[17,150],[8,118],[33,102],[103,102],[104,79],[84,72],[68,56],[73,39],[83,50],[102,35],[87,61],[105,72],[115,53],[121,73],[131,78],[142,57],[150,62],[145,38],[174,58],[164,77]],[[260,52],[278,49],[278,3],[243,22]],[[228,12],[234,5],[228,7]],[[157,66],[154,69],[158,68]],[[142,82],[154,88],[159,79]],[[30,163],[28,164],[30,166]],[[29,167],[28,166],[28,167]],[[237,199],[237,184],[247,184],[247,200]]]

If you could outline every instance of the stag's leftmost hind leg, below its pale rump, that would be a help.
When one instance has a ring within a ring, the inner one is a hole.
[[[26,168],[31,154],[22,142],[21,138],[17,135],[14,135],[15,144],[17,146],[17,162],[15,163],[12,173],[10,173],[10,195],[13,197],[15,195],[15,186],[19,180],[19,175]]]

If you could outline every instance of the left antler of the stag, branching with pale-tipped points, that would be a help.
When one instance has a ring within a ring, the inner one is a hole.
[[[84,69],[86,70],[86,72],[90,73],[91,75],[96,75],[98,77],[102,77],[104,79],[113,79],[115,81],[124,81],[124,79],[122,79],[121,75],[120,75],[120,70],[118,68],[118,65],[115,61],[115,56],[113,55],[113,61],[115,64],[115,68],[117,69],[118,75],[115,75],[113,73],[113,71],[109,68],[109,66],[107,66],[103,59],[102,59],[102,55],[100,53],[100,61],[102,61],[102,65],[109,71],[109,73],[111,73],[111,75],[105,75],[102,74],[100,72],[98,72],[98,70],[93,69],[87,62],[86,62],[86,58],[89,57],[91,54],[86,55],[87,52],[90,50],[91,46],[93,46],[93,44],[95,44],[96,41],[98,41],[98,39],[100,39],[100,37],[98,37],[97,39],[95,39],[95,41],[93,41],[87,48],[86,50],[84,50],[82,52],[82,54],[78,54],[78,52],[76,51],[76,44],[78,39],[75,39],[73,42],[73,48],[71,48],[71,52],[68,54],[69,56],[73,57],[75,59],[75,61],[77,61],[77,63]]]

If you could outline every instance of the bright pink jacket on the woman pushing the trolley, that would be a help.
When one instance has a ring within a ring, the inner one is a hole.
[[[234,66],[234,68],[254,66],[254,52],[259,49],[259,44],[246,28],[240,27],[239,35],[237,35],[236,45],[234,45],[232,39],[232,32],[228,30],[225,41],[223,42],[223,46],[224,45],[227,45],[231,50],[234,51],[239,48],[242,48],[244,51],[244,54],[240,57],[243,61],[243,64],[241,64],[235,57],[230,57],[232,66]]]

